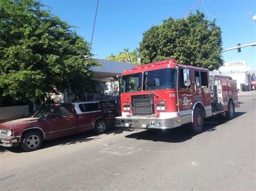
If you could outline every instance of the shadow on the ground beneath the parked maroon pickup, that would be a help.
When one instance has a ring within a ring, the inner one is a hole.
[[[114,126],[110,126],[109,130],[105,132],[106,135],[117,135],[120,133],[123,133],[124,131],[134,131],[133,129],[127,129],[127,128],[115,128]],[[99,139],[100,135],[96,135],[93,131],[87,131],[87,132],[82,132],[82,133],[77,133],[75,135],[70,135],[70,136],[65,136],[65,137],[60,137],[57,139],[52,139],[52,140],[46,140],[40,150],[49,148],[52,146],[65,146],[65,145],[73,145],[73,144],[78,144],[78,143],[84,143],[84,142],[90,142],[91,140],[97,140]],[[22,150],[21,147],[3,147],[0,146],[0,154],[5,153],[5,152],[14,152],[14,153],[22,153],[25,152]]]

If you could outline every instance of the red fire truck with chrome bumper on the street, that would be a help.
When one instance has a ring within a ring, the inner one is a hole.
[[[200,133],[204,118],[232,119],[239,107],[235,80],[175,59],[136,66],[120,78],[122,116],[116,126],[171,129],[191,123],[191,131]]]

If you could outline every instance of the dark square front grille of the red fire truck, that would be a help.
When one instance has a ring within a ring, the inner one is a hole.
[[[152,94],[132,96],[132,114],[145,116],[154,114],[154,97]]]

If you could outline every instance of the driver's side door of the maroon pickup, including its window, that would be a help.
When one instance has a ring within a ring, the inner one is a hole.
[[[77,132],[77,117],[70,104],[59,104],[52,112],[52,117],[46,119],[48,138],[62,137]]]

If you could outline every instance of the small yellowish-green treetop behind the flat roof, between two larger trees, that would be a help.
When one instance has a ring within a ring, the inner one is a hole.
[[[119,62],[136,63],[137,65],[139,65],[140,63],[138,62],[138,58],[138,49],[134,49],[132,52],[129,52],[129,48],[124,48],[124,50],[120,51],[117,55],[111,54],[105,59]]]

